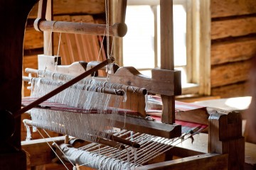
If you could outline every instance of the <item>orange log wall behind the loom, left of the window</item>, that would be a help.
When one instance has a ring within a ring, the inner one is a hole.
[[[28,23],[26,25],[26,33],[24,38],[24,53],[23,53],[23,69],[25,68],[38,68],[37,55],[43,54],[43,33],[38,32],[33,28],[33,21],[37,18],[38,4],[33,7],[30,15],[28,16]],[[83,1],[64,1],[53,0],[53,17],[56,21],[70,21],[70,19],[79,20],[79,22],[102,23],[105,21],[105,0],[83,0]],[[88,21],[90,20],[90,21]],[[100,49],[100,43],[97,42],[97,36],[92,35],[78,35],[75,38],[74,35],[64,34],[62,36],[62,42],[60,45],[60,56],[63,57],[63,64],[71,64],[74,61],[65,59],[73,57],[65,57],[63,55],[70,55],[70,44],[74,44],[71,41],[80,40],[79,44],[83,48],[80,52],[85,57],[90,57],[88,61],[92,60],[92,56],[98,56]],[[78,37],[78,38],[77,38]],[[57,54],[59,34],[54,35],[54,50]],[[78,47],[76,45],[75,47]],[[84,47],[90,47],[90,49],[84,49]],[[85,51],[85,52],[84,52]],[[72,53],[73,54],[73,53]],[[72,55],[73,56],[73,55]],[[102,57],[101,57],[102,58]],[[75,61],[86,61],[81,59],[80,55]],[[23,73],[24,76],[28,74]],[[27,89],[28,84],[24,83],[23,96],[29,96],[30,91]]]

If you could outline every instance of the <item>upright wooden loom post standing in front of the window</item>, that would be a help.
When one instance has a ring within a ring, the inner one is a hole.
[[[161,69],[174,70],[173,0],[160,1]],[[161,95],[163,101],[163,123],[175,123],[174,96]]]

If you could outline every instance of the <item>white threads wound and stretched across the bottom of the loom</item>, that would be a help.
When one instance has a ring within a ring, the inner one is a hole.
[[[193,135],[195,134],[197,132],[193,133]],[[138,142],[141,147],[134,150],[134,148],[126,146],[126,149],[119,151],[117,148],[92,143],[78,149],[70,148],[67,145],[63,145],[61,148],[66,159],[70,159],[73,163],[79,162],[81,165],[102,170],[133,169],[134,167],[146,164],[151,159],[178,145],[178,143],[183,141],[182,137],[188,136],[185,140],[190,138],[188,132],[174,139],[140,133],[134,134],[127,130],[121,130],[114,135]]]

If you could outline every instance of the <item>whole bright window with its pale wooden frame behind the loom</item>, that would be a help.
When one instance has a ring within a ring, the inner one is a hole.
[[[123,66],[142,74],[160,67],[160,7],[157,0],[127,1]],[[174,65],[183,94],[210,94],[210,0],[174,0]]]

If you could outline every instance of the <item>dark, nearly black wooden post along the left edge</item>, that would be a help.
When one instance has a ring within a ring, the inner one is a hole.
[[[15,113],[21,108],[21,77],[23,38],[26,19],[36,0],[0,0],[0,124],[3,122],[4,110]],[[26,170],[26,154],[21,149],[21,118],[14,120],[14,135],[2,139],[0,137],[0,169]],[[8,128],[8,126],[6,127]],[[1,128],[1,132],[4,132]]]

